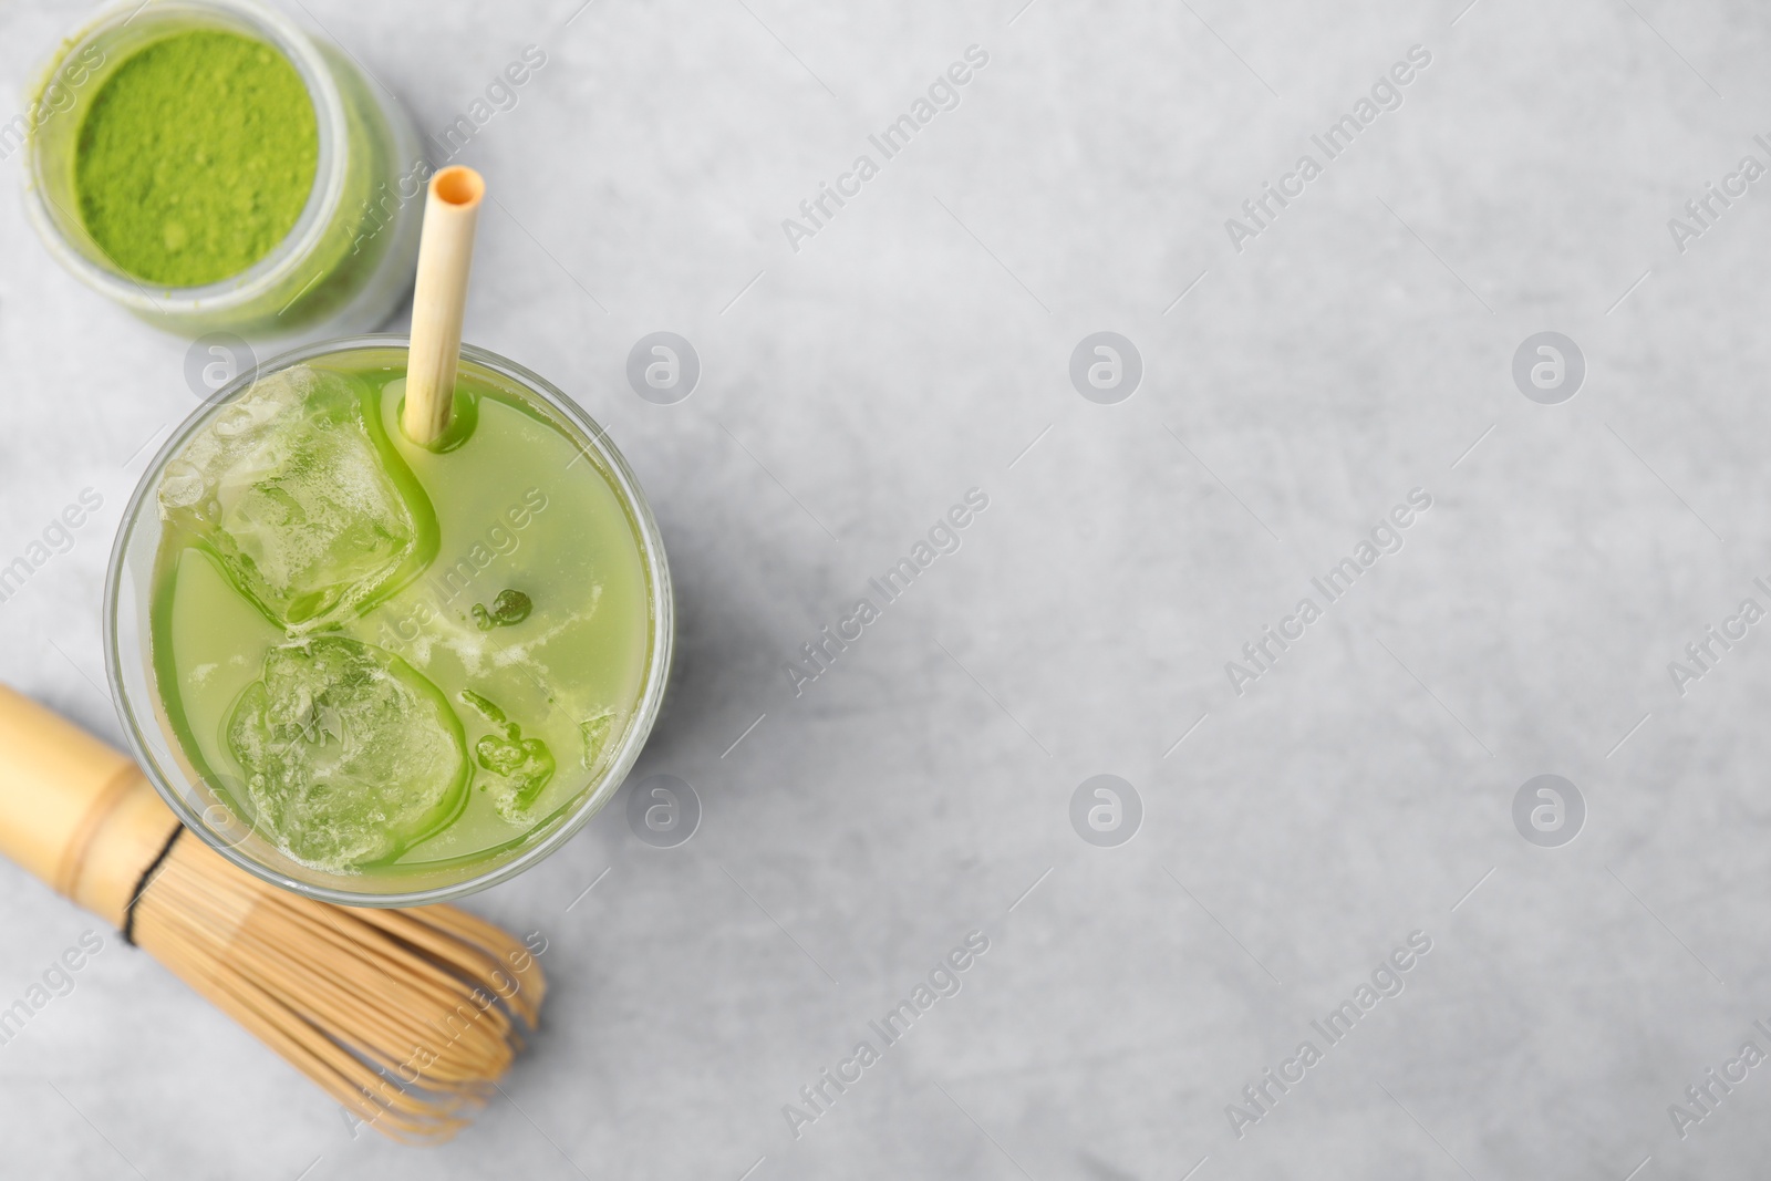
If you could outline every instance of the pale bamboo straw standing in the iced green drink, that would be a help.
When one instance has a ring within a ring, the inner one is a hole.
[[[430,177],[413,289],[406,413],[400,416],[406,437],[420,446],[430,446],[448,430],[460,361],[460,319],[473,269],[473,234],[483,197],[485,179],[473,168],[453,165]]]

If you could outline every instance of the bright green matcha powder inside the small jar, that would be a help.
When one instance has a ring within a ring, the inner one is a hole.
[[[74,191],[119,267],[200,287],[239,274],[294,228],[317,159],[296,67],[262,41],[189,30],[143,46],[104,81],[80,126]]]

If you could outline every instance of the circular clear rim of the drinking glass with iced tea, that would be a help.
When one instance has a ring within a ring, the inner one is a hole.
[[[560,822],[560,825],[547,832],[544,838],[535,841],[533,846],[524,848],[521,853],[494,864],[483,873],[466,876],[459,882],[446,882],[441,885],[427,885],[414,891],[390,891],[390,889],[367,889],[351,891],[335,885],[321,885],[317,882],[305,882],[289,876],[273,866],[260,862],[250,853],[239,848],[239,841],[230,841],[225,834],[218,832],[214,825],[205,816],[205,811],[193,807],[191,799],[177,786],[174,786],[174,776],[186,779],[179,767],[165,767],[163,760],[156,756],[152,745],[147,740],[152,733],[159,733],[168,740],[168,751],[179,754],[175,737],[165,735],[163,726],[154,724],[154,714],[158,703],[143,701],[138,703],[131,694],[129,683],[124,678],[124,653],[122,653],[122,595],[124,579],[128,572],[128,558],[131,552],[131,542],[135,538],[136,526],[142,519],[143,510],[151,508],[154,503],[154,494],[158,489],[158,478],[165,466],[181,453],[184,444],[191,436],[207,425],[218,413],[221,413],[230,402],[243,395],[253,381],[260,375],[275,374],[303,361],[310,361],[321,356],[333,356],[338,352],[352,352],[363,349],[409,349],[411,336],[406,333],[368,333],[360,336],[342,336],[333,340],[322,340],[298,349],[290,349],[269,361],[248,368],[234,377],[221,391],[213,398],[207,398],[202,407],[189,414],[159,448],[154,459],[147,464],[142,473],[140,483],[136,483],[135,492],[129,496],[129,503],[122,510],[122,521],[117,528],[117,540],[112,545],[110,568],[104,575],[104,614],[103,614],[103,645],[104,645],[104,671],[110,685],[112,703],[117,708],[117,719],[122,726],[124,738],[129,745],[129,753],[135,756],[147,781],[154,784],[154,790],[174,811],[174,814],[191,829],[205,845],[214,848],[218,853],[227,857],[230,862],[251,873],[257,878],[280,885],[283,889],[294,891],[306,898],[319,901],[338,903],[345,907],[420,907],[429,903],[450,901],[473,894],[489,885],[505,882],[524,869],[530,869],[547,855],[554,853],[561,845],[565,845],[572,836],[579,832],[592,816],[595,816],[613,797],[620,791],[622,783],[632,770],[634,763],[639,760],[639,753],[652,735],[652,728],[664,705],[664,692],[669,680],[671,653],[675,646],[675,595],[671,590],[669,565],[664,556],[664,538],[659,531],[657,519],[652,515],[652,506],[646,501],[645,492],[639,487],[639,478],[629,467],[627,459],[609,439],[607,430],[602,428],[583,407],[577,405],[565,391],[549,382],[540,374],[510,361],[489,349],[478,349],[475,345],[464,343],[460,347],[460,356],[464,361],[473,361],[496,374],[501,374],[517,384],[521,384],[530,393],[537,395],[558,413],[561,413],[570,423],[584,436],[588,450],[595,453],[600,460],[606,475],[613,480],[615,490],[618,492],[623,508],[632,513],[634,535],[641,547],[641,558],[646,568],[648,581],[648,609],[650,609],[650,636],[648,636],[648,660],[645,683],[639,689],[638,699],[634,703],[634,715],[629,722],[625,733],[622,735],[622,744],[609,758],[602,770],[602,776],[586,783],[584,797],[576,804],[572,813]],[[140,662],[140,655],[133,657]],[[147,685],[152,691],[151,685]],[[145,706],[145,708],[138,708]],[[143,717],[145,714],[145,717]],[[195,784],[193,784],[195,786]]]

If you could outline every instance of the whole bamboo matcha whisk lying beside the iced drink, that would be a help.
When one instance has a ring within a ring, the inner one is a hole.
[[[260,882],[184,834],[126,756],[4,685],[0,852],[397,1140],[459,1131],[540,1015],[540,963],[507,931]]]

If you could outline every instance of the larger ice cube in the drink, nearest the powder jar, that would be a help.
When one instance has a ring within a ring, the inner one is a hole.
[[[159,513],[292,636],[356,616],[436,549],[430,505],[388,473],[356,382],[306,365],[260,377],[191,437]]]

